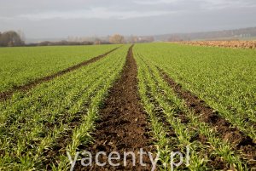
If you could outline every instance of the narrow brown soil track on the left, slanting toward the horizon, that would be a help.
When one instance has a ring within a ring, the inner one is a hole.
[[[9,91],[6,91],[6,92],[0,92],[0,101],[8,100],[17,91],[24,91],[24,92],[26,92],[26,91],[32,89],[33,87],[36,87],[40,83],[48,82],[48,81],[54,79],[55,77],[60,77],[60,76],[62,76],[64,74],[66,74],[67,72],[77,70],[77,69],[79,69],[82,66],[87,66],[90,63],[96,62],[97,60],[101,60],[103,57],[105,57],[108,54],[112,53],[116,49],[117,48],[113,48],[112,50],[108,51],[105,54],[100,54],[100,55],[98,55],[98,56],[96,56],[96,57],[94,57],[94,58],[92,58],[90,60],[85,60],[85,61],[83,61],[83,62],[81,62],[81,63],[79,63],[79,64],[77,64],[75,66],[70,66],[67,69],[62,70],[62,71],[58,71],[58,72],[56,72],[56,73],[54,73],[52,75],[38,78],[38,79],[36,79],[35,81],[33,81],[31,83],[26,83],[24,85],[20,85],[18,87],[15,87],[15,88],[9,90]]]

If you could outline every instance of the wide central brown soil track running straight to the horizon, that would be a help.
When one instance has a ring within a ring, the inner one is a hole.
[[[87,151],[93,153],[104,151],[107,157],[101,156],[100,162],[107,162],[106,166],[100,167],[93,160],[91,168],[81,165],[78,170],[150,170],[151,162],[148,157],[143,157],[147,166],[140,166],[140,148],[143,151],[153,151],[148,135],[148,123],[146,114],[140,106],[137,92],[137,64],[132,54],[132,46],[129,48],[124,69],[119,80],[110,89],[105,105],[99,112],[101,120],[96,123],[94,135],[95,143]],[[108,154],[118,151],[120,159],[114,163],[119,166],[109,165]],[[133,166],[131,155],[127,157],[127,165],[124,166],[124,152],[135,152],[136,164]]]

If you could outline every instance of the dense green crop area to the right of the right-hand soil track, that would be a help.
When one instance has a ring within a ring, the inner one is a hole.
[[[137,49],[255,142],[256,50],[164,43]]]

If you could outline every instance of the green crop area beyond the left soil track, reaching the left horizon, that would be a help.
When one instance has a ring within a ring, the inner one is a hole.
[[[1,48],[0,92],[49,76],[116,47],[101,45]]]

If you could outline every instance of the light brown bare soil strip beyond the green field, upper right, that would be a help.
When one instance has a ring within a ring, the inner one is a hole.
[[[256,48],[256,41],[191,41],[180,43],[224,48]]]

